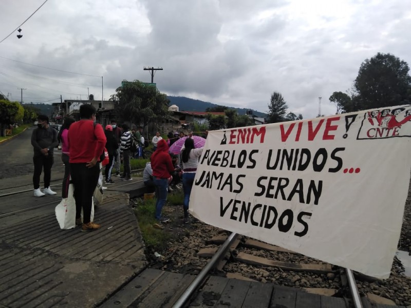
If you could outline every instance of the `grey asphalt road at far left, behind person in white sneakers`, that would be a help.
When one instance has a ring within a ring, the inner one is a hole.
[[[35,126],[29,127],[13,139],[0,143],[0,179],[33,174],[33,147],[30,139],[34,128]],[[53,179],[53,171],[61,170],[63,170],[61,151],[56,148],[51,179]]]

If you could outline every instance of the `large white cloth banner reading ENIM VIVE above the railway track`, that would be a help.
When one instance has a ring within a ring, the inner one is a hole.
[[[210,131],[199,220],[387,278],[411,169],[411,106]]]

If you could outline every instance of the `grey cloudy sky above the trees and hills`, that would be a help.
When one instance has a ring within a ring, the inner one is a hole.
[[[43,2],[1,0],[0,41]],[[101,100],[101,76],[106,100],[161,67],[163,93],[266,112],[277,91],[307,119],[377,52],[411,65],[408,0],[48,0],[21,28],[0,43],[0,91],[25,102]]]

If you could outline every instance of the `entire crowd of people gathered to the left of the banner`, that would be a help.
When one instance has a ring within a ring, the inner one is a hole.
[[[130,158],[135,155],[142,157],[144,148],[142,127],[132,130],[127,124],[123,124],[120,128],[115,120],[111,120],[110,124],[103,129],[96,122],[96,112],[96,108],[92,105],[81,105],[80,120],[75,121],[73,118],[66,117],[59,132],[49,125],[46,115],[39,115],[38,128],[33,130],[31,136],[34,150],[34,196],[57,194],[50,188],[51,167],[54,162],[54,148],[61,144],[61,159],[65,166],[62,198],[68,197],[71,180],[76,201],[76,225],[82,225],[83,232],[101,227],[100,224],[90,221],[90,216],[92,198],[100,176],[100,161],[104,157],[104,152],[108,153],[108,163],[104,171],[105,183],[113,184],[114,169],[116,170],[115,176],[119,179],[132,180]],[[167,191],[172,190],[169,186],[178,185],[180,181],[182,181],[184,190],[184,223],[189,222],[189,199],[202,148],[194,147],[192,134],[190,134],[184,142],[179,160],[179,156],[169,153],[169,146],[181,137],[184,137],[184,133],[175,132],[173,138],[165,141],[157,132],[152,140],[154,152],[151,156],[151,163],[147,163],[143,172],[144,184],[152,185],[156,192],[155,218],[159,224],[169,221],[169,218],[161,215]],[[137,154],[132,151],[133,139],[140,141],[137,142]],[[123,161],[122,175],[120,175],[120,156]],[[43,191],[40,189],[42,171],[44,172]],[[83,220],[81,210],[83,210]]]

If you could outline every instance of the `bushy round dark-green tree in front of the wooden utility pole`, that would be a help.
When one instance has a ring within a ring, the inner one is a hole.
[[[167,95],[160,93],[155,86],[138,80],[124,80],[122,86],[116,89],[116,94],[111,95],[110,101],[115,102],[120,122],[146,126],[151,121],[162,121],[169,112]]]

